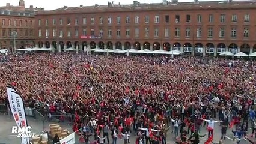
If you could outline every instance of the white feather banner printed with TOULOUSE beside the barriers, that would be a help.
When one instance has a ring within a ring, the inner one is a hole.
[[[11,113],[17,127],[27,127],[25,107],[22,97],[13,88],[7,87],[7,96],[10,104]],[[22,144],[29,144],[29,137],[22,137]]]

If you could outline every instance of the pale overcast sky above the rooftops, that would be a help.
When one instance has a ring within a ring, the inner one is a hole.
[[[159,3],[162,0],[137,0],[141,3]],[[168,0],[171,1],[171,0]],[[178,2],[193,1],[193,0],[178,0]],[[206,0],[203,0],[206,1]],[[112,0],[25,0],[26,8],[29,5],[34,5],[34,7],[43,7],[45,10],[54,10],[56,8],[61,8],[64,6],[69,7],[79,7],[79,5],[107,5],[108,2]],[[133,0],[114,0],[114,4],[133,4]],[[6,5],[6,3],[11,3],[11,5],[19,5],[19,0],[0,0],[0,6]]]

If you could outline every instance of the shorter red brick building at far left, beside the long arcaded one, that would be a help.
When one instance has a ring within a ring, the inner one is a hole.
[[[7,3],[0,7],[0,49],[13,50],[14,46],[17,49],[35,46],[34,13],[38,10],[43,8],[33,8],[32,5],[25,8],[23,0],[19,1],[18,6]]]

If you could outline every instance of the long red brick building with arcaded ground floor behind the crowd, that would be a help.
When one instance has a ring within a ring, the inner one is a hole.
[[[63,7],[35,15],[37,47],[256,52],[256,3],[219,1]]]

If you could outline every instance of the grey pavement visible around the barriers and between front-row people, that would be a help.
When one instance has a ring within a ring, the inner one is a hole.
[[[10,137],[9,135],[11,134],[11,127],[15,125],[14,119],[10,118],[8,115],[0,115],[0,121],[1,121],[1,126],[0,126],[0,144],[19,144],[20,143],[20,138],[18,137]],[[40,134],[41,131],[43,131],[43,128],[46,130],[49,130],[49,124],[50,123],[56,123],[56,122],[44,122],[41,120],[36,120],[34,118],[29,118],[28,117],[28,125],[32,127],[32,133],[37,133]],[[61,127],[64,129],[68,129],[70,132],[72,131],[72,126],[67,125],[67,124],[61,124]],[[206,134],[206,127],[201,127],[201,134]],[[251,129],[249,130],[249,133],[251,134]],[[221,128],[219,127],[218,124],[215,125],[215,131],[213,134],[214,137],[214,142],[219,142],[219,139],[221,137]],[[233,134],[231,133],[231,130],[228,130],[227,136],[232,137]],[[203,144],[206,141],[207,137],[203,137],[200,141],[200,144]],[[93,140],[93,137],[91,137],[91,140]],[[109,137],[110,143],[112,143],[111,137]],[[167,143],[168,144],[174,144],[174,134],[171,134],[171,130],[168,132],[168,137],[167,137]],[[81,144],[79,142],[79,136],[76,136],[76,143]],[[118,144],[124,143],[123,140],[119,139],[117,141]],[[132,136],[130,139],[130,143],[134,144],[135,143],[135,137]],[[231,144],[235,143],[232,140],[223,140],[224,144]],[[240,144],[248,144],[247,141],[242,140]]]

